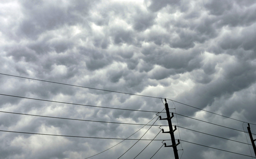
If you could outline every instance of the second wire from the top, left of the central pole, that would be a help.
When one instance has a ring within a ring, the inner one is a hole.
[[[32,99],[32,100],[56,102],[56,103],[62,103],[62,104],[72,104],[72,105],[90,106],[90,107],[100,107],[100,108],[109,108],[109,109],[118,109],[118,110],[129,110],[129,111],[142,111],[142,112],[155,112],[155,113],[158,113],[158,111],[136,110],[136,109],[127,109],[127,108],[117,108],[117,107],[107,107],[107,106],[96,106],[96,105],[87,105],[87,104],[77,104],[77,103],[70,103],[70,102],[63,102],[63,101],[54,101],[54,100],[46,100],[46,99],[38,99],[38,98],[31,98],[31,97],[24,97],[24,96],[17,96],[17,95],[1,94],[1,93],[0,93],[0,95],[12,96],[12,97],[19,97],[19,98],[24,98],[24,99]]]

